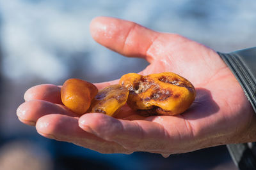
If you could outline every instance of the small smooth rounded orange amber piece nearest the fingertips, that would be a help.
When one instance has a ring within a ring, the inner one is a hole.
[[[82,115],[90,108],[91,101],[97,92],[97,87],[92,83],[70,78],[61,87],[61,101],[67,108]]]

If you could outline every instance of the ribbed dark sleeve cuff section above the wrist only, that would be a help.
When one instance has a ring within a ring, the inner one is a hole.
[[[256,113],[256,47],[218,54],[236,76]]]

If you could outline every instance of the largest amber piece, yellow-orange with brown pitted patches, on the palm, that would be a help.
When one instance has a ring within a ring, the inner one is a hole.
[[[141,115],[177,115],[186,111],[196,96],[195,87],[175,73],[122,76],[120,85],[129,90],[127,104]]]

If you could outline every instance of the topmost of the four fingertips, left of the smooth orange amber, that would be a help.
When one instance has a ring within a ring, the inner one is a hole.
[[[61,87],[51,84],[36,85],[25,92],[24,99],[25,101],[38,99],[49,101],[51,103],[62,104],[60,89]]]

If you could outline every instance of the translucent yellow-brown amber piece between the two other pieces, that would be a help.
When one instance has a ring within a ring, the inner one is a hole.
[[[104,113],[111,117],[118,113],[127,101],[129,90],[121,85],[110,85],[94,97],[91,112]]]

